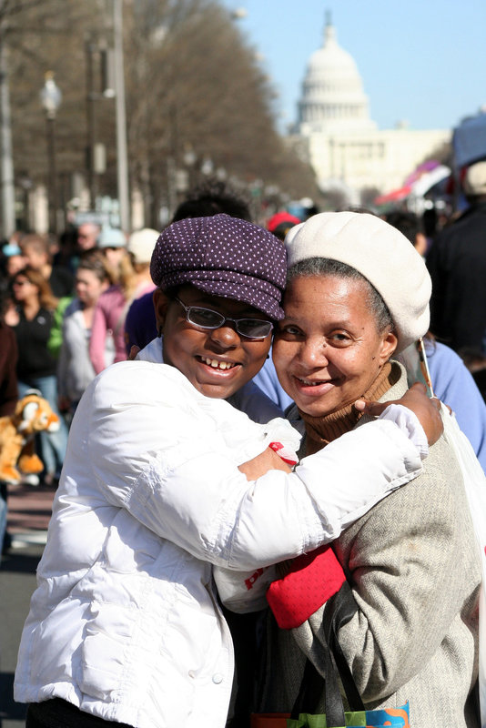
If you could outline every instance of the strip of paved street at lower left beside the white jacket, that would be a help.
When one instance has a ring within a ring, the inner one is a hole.
[[[55,490],[9,486],[11,550],[0,565],[0,726],[25,725],[25,705],[14,703],[12,684],[20,633],[35,589],[35,567],[46,542]]]

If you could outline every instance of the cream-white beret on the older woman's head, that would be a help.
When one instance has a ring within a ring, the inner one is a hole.
[[[321,212],[291,227],[285,247],[288,268],[308,258],[331,258],[367,278],[390,310],[397,352],[429,329],[429,271],[410,240],[380,217]]]

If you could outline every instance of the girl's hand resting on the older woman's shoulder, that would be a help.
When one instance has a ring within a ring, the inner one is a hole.
[[[401,399],[393,399],[390,402],[367,402],[364,399],[358,399],[354,406],[360,412],[378,417],[389,404],[401,404],[414,412],[427,436],[429,445],[433,445],[439,440],[444,429],[440,419],[440,400],[436,397],[428,397],[424,384],[420,382],[412,384]]]

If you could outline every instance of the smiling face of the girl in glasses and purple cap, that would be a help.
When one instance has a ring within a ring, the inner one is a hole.
[[[231,318],[268,320],[264,313],[246,303],[219,298],[183,286],[177,298],[186,306],[211,308]],[[266,339],[246,339],[234,324],[220,329],[197,329],[186,320],[186,311],[158,288],[154,292],[157,329],[164,336],[164,362],[179,369],[207,397],[227,399],[261,369],[271,343]]]

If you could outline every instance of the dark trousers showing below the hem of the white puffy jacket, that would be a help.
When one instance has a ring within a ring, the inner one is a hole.
[[[133,728],[127,723],[104,721],[91,713],[84,713],[76,705],[61,698],[52,698],[44,703],[30,703],[27,709],[25,728]]]

